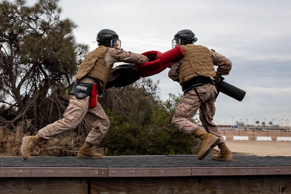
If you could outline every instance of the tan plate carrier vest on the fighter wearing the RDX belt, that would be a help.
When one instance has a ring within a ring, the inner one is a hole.
[[[99,46],[94,51],[89,52],[72,81],[81,79],[85,76],[94,78],[99,81],[100,88],[98,94],[101,95],[109,75],[111,74],[111,68],[108,68],[105,62],[105,52],[108,48],[109,47]]]

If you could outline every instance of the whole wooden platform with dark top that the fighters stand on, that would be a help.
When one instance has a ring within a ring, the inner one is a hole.
[[[291,157],[0,157],[1,193],[291,193]]]

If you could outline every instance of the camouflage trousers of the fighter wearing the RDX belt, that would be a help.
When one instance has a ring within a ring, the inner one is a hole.
[[[99,144],[108,131],[110,122],[98,101],[95,108],[88,109],[89,100],[90,96],[77,99],[75,95],[70,95],[70,104],[63,115],[63,119],[40,129],[38,135],[41,138],[52,140],[58,134],[76,128],[81,120],[85,118],[88,124],[92,126],[86,141],[93,145]]]

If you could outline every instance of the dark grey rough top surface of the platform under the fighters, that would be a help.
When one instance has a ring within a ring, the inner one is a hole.
[[[210,156],[103,156],[102,159],[77,157],[0,157],[1,167],[62,168],[181,168],[181,167],[277,167],[291,166],[290,156],[234,156],[232,162],[215,161]]]

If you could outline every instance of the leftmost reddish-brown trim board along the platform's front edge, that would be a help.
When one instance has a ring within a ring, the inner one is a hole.
[[[0,177],[98,177],[99,168],[0,168]]]

